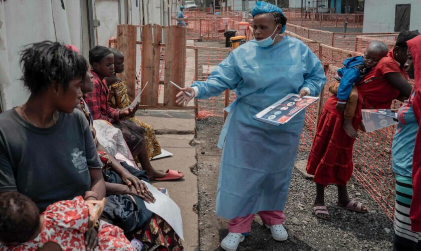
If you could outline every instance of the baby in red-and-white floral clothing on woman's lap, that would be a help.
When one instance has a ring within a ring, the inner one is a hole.
[[[0,251],[35,251],[47,242],[63,250],[85,250],[90,209],[82,196],[50,205],[42,214],[37,205],[19,192],[0,196]],[[95,250],[133,250],[121,228],[99,221]]]

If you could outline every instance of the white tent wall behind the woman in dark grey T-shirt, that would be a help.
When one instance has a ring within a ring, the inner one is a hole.
[[[3,22],[0,36],[4,41],[4,48],[0,46],[0,91],[3,92],[0,95],[4,97],[5,109],[22,105],[28,98],[28,91],[19,80],[22,76],[19,52],[23,46],[52,40],[83,48],[86,55],[86,41],[89,48],[89,39],[85,39],[87,28],[82,28],[81,21],[81,5],[86,6],[86,1],[64,0],[64,9],[60,0],[8,0],[0,3]]]

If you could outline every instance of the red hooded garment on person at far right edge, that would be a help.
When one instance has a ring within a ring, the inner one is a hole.
[[[412,108],[418,124],[421,123],[421,36],[406,42],[412,56],[415,73],[415,95]],[[421,131],[415,138],[415,148],[412,157],[412,201],[409,210],[411,230],[421,232]]]

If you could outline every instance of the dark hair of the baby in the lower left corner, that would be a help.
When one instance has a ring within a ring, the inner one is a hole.
[[[27,242],[40,227],[40,210],[19,192],[0,193],[0,240]]]

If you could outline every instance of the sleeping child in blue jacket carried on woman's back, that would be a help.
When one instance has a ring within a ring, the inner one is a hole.
[[[358,136],[351,122],[355,116],[358,102],[358,91],[354,82],[360,81],[382,57],[386,56],[387,52],[388,48],[385,43],[371,42],[365,50],[364,56],[356,56],[343,61],[345,67],[338,69],[338,74],[334,77],[335,82],[329,87],[329,91],[338,98],[336,109],[344,113],[343,129],[351,138]]]

